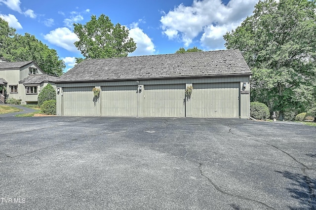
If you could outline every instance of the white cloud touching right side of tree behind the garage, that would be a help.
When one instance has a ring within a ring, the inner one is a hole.
[[[128,36],[134,39],[137,47],[129,56],[153,55],[155,53],[155,44],[152,39],[138,27],[137,23],[131,24]]]

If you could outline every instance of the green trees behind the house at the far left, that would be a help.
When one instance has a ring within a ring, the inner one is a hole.
[[[57,51],[49,49],[34,35],[15,34],[15,29],[0,18],[0,54],[11,62],[34,61],[41,70],[52,75],[61,75],[66,67]]]

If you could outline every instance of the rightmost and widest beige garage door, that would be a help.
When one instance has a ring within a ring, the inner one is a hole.
[[[238,117],[239,83],[193,84],[194,117]]]

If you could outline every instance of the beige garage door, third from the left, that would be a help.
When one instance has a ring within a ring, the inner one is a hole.
[[[144,89],[145,116],[185,116],[185,84],[145,85]]]

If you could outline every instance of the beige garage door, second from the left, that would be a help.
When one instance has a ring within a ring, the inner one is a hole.
[[[137,85],[103,86],[102,116],[137,116]]]

